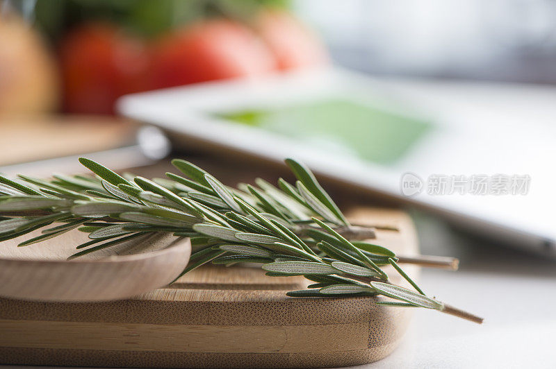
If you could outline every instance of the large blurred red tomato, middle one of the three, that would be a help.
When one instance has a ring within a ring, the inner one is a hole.
[[[174,31],[154,49],[152,87],[162,88],[234,77],[261,76],[275,60],[259,37],[224,19]]]

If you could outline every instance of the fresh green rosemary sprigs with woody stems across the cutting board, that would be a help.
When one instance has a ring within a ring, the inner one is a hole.
[[[374,238],[374,229],[351,225],[313,173],[295,160],[286,160],[295,185],[280,179],[275,187],[257,179],[256,186],[240,184],[237,189],[185,160],[172,160],[185,177],[167,173],[167,178],[154,180],[118,175],[85,158],[79,161],[95,176],[0,176],[0,241],[61,223],[19,243],[27,246],[79,227],[91,241],[76,246],[73,259],[151,232],[170,232],[190,237],[193,246],[181,275],[210,262],[256,262],[267,275],[304,275],[316,282],[287,293],[293,297],[383,295],[394,301],[377,304],[425,307],[482,323],[482,318],[427,297],[398,266],[404,261],[446,263],[398,257],[388,248],[360,241]],[[384,265],[393,266],[415,291],[392,284]]]

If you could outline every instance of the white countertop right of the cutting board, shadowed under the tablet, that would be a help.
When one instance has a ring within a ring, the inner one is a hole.
[[[416,309],[393,354],[354,368],[556,368],[556,261],[471,239],[416,218],[424,254],[460,258],[457,272],[425,269],[425,293],[485,318],[476,325]]]

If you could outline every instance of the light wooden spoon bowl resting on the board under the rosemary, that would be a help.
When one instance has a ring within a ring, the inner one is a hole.
[[[37,236],[27,234],[24,239]],[[70,231],[17,247],[22,239],[0,242],[0,296],[44,301],[102,301],[130,298],[165,286],[183,271],[189,239],[147,234],[67,261],[87,241]]]

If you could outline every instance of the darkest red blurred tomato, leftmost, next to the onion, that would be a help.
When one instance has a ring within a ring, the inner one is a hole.
[[[60,59],[67,112],[111,114],[118,97],[148,87],[145,44],[115,26],[77,28],[63,40]]]

